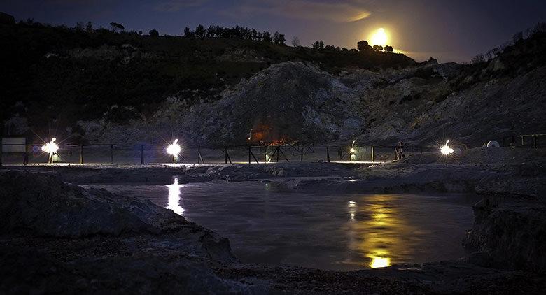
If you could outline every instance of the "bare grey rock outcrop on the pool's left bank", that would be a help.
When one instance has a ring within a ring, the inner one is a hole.
[[[0,174],[0,233],[8,236],[87,238],[159,236],[194,255],[235,261],[228,239],[188,222],[148,200],[104,189],[68,185],[55,175],[7,171]]]

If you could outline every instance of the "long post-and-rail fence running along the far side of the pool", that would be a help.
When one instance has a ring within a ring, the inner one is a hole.
[[[5,146],[4,144],[3,146]],[[54,163],[64,164],[165,164],[173,163],[172,155],[160,145],[59,145]],[[358,146],[351,159],[349,146],[312,145],[226,145],[183,146],[176,163],[187,164],[263,164],[279,161],[324,161],[342,163],[385,162],[396,159],[395,146]],[[2,149],[0,149],[2,150]],[[41,144],[25,145],[24,153],[0,155],[0,164],[45,164],[49,154]],[[427,147],[406,145],[402,153],[419,154]]]

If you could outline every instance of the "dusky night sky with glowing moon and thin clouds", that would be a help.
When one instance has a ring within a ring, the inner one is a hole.
[[[517,31],[546,21],[543,0],[0,0],[0,11],[16,20],[66,24],[91,21],[109,28],[181,35],[184,27],[219,24],[254,27],[293,36],[301,44],[356,48],[358,40],[383,27],[390,43],[417,61],[468,62],[497,47]]]

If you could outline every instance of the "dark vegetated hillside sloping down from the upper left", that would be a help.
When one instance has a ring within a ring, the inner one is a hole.
[[[108,122],[150,115],[168,96],[188,105],[216,101],[223,89],[271,64],[312,62],[325,71],[414,65],[387,52],[336,52],[236,38],[91,33],[41,24],[0,24],[1,109],[29,118],[33,128],[73,127],[109,112]],[[20,101],[24,108],[13,109]],[[112,112],[112,106],[125,109]],[[62,114],[62,116],[59,116]]]

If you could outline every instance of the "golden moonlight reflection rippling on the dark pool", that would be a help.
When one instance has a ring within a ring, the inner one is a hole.
[[[407,250],[400,238],[400,233],[410,232],[408,226],[398,212],[391,206],[395,196],[379,194],[368,196],[365,203],[349,203],[349,216],[353,229],[353,245],[365,259],[370,268],[391,266],[391,261]],[[363,217],[355,218],[355,213]]]

